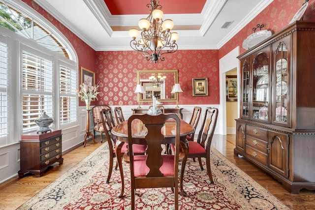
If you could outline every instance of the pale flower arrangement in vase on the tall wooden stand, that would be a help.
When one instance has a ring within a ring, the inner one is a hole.
[[[98,100],[97,94],[100,93],[97,92],[98,87],[98,83],[95,86],[82,83],[80,85],[80,90],[77,90],[78,97],[81,98],[81,101],[85,101],[87,109],[90,109],[91,100],[93,100],[94,98]]]

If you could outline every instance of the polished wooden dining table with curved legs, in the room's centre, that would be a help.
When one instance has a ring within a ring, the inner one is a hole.
[[[116,146],[115,146],[116,158],[121,157],[121,148],[123,147],[125,143],[128,144],[127,122],[128,120],[125,120],[122,123],[118,124],[117,126],[113,127],[113,129],[111,130],[112,135],[115,135],[117,137]],[[181,168],[181,175],[180,175],[180,193],[182,196],[186,196],[187,193],[183,189],[184,171],[185,171],[185,166],[186,166],[187,157],[188,157],[188,150],[189,150],[189,143],[188,143],[188,140],[186,139],[186,136],[194,132],[194,128],[184,120],[180,120],[180,123],[181,123],[180,140],[181,140],[181,146],[183,148],[179,156],[179,160],[182,161],[182,168]],[[170,144],[174,142],[175,125],[176,125],[175,120],[169,119],[165,122],[164,126],[161,128],[161,133],[164,135],[163,144]],[[138,119],[133,120],[131,123],[131,127],[132,127],[132,131],[131,131],[132,138],[138,138],[138,139],[145,138],[147,129],[141,120],[138,120]],[[127,152],[124,154],[123,159],[125,162],[127,163],[129,162],[129,156]],[[124,192],[125,192],[122,159],[117,158],[117,162],[118,162],[118,166],[119,166],[119,170],[121,174],[121,180],[122,180],[122,189],[118,197],[122,198],[124,197]]]

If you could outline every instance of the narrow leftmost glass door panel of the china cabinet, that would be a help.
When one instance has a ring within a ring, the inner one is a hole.
[[[242,66],[242,104],[241,116],[249,117],[249,92],[250,92],[250,66],[247,60],[244,60]]]

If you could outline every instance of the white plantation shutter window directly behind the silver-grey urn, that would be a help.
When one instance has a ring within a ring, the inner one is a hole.
[[[28,52],[22,54],[23,63],[23,131],[33,130],[37,127],[34,120],[42,112],[53,114],[53,71],[52,61],[32,55]]]

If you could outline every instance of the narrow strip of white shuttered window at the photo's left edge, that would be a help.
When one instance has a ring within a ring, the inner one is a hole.
[[[0,146],[6,141],[8,134],[7,115],[7,75],[8,53],[5,43],[0,42]]]

